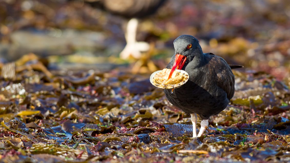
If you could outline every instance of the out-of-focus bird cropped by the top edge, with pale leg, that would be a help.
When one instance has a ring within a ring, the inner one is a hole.
[[[149,50],[149,44],[136,41],[137,18],[154,14],[166,0],[82,0],[92,7],[102,8],[113,14],[129,18],[125,32],[126,46],[120,53],[123,59],[132,55],[140,58],[141,52]]]

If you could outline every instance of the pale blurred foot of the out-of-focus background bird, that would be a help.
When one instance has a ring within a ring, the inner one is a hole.
[[[141,58],[142,52],[147,52],[150,49],[150,45],[146,42],[134,42],[128,43],[124,50],[120,53],[120,58],[127,59],[130,56],[133,58]]]

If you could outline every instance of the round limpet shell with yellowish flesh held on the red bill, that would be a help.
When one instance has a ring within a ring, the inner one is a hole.
[[[173,75],[176,74],[175,77],[174,78],[171,77],[169,80],[167,80],[170,71],[171,69],[163,69],[153,72],[150,76],[151,84],[161,89],[172,89],[181,87],[189,79],[189,74],[186,71],[176,69],[173,72]],[[164,72],[166,72],[166,74],[164,74]],[[163,78],[161,76],[163,76]]]

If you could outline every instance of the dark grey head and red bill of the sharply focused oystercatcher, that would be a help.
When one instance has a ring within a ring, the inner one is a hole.
[[[184,64],[191,62],[194,58],[201,58],[203,56],[199,41],[191,35],[177,37],[173,45],[175,49],[175,62],[168,79],[171,78],[175,69],[182,69]]]

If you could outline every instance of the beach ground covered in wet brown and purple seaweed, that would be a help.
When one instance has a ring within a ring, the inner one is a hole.
[[[4,0],[0,21],[0,162],[290,161],[287,0],[168,1],[140,20],[149,52],[127,60],[126,19],[83,3]],[[149,81],[182,34],[244,66],[198,139]]]

